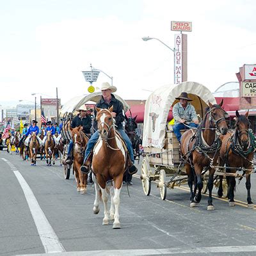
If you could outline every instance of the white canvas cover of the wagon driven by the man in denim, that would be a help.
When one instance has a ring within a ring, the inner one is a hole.
[[[201,117],[208,102],[216,104],[216,100],[210,90],[196,82],[184,82],[180,84],[168,84],[157,88],[150,94],[145,104],[143,124],[143,147],[164,147],[164,136],[166,122],[171,106],[179,100],[180,93],[187,92],[189,98],[193,99],[191,104]]]

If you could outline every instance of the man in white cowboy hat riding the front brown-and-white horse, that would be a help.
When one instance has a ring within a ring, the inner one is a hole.
[[[113,106],[113,112],[111,112],[111,115],[113,118],[115,118],[115,125],[122,136],[122,138],[125,141],[125,144],[127,146],[127,150],[129,152],[129,156],[131,157],[131,163],[128,164],[129,166],[129,173],[134,174],[138,170],[136,166],[134,166],[134,156],[133,156],[133,149],[132,149],[132,143],[127,134],[124,132],[123,128],[123,122],[125,120],[124,118],[124,106],[120,100],[116,99],[115,96],[112,94],[113,92],[116,92],[116,87],[111,86],[109,83],[102,83],[101,85],[101,92],[102,92],[102,97],[101,99],[97,102],[96,107],[97,108],[102,108],[102,109],[108,109],[111,106]],[[95,116],[96,116],[96,111],[95,111]],[[97,122],[95,120],[95,122]],[[90,164],[92,163],[92,149],[99,139],[99,131],[97,130],[96,132],[93,133],[92,137],[87,143],[85,154],[84,154],[84,164],[81,166],[80,170],[83,173],[89,173],[90,172]],[[90,157],[89,157],[90,156]]]

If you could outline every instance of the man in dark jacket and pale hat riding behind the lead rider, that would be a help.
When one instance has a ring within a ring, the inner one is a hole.
[[[79,125],[83,126],[83,132],[90,137],[91,127],[92,127],[92,117],[87,114],[87,108],[85,105],[82,105],[80,108],[76,109],[76,111],[79,112],[78,115],[76,115],[72,119],[71,127],[76,128],[79,127]],[[74,143],[72,140],[70,140],[69,146],[68,146],[68,153],[67,153],[67,159],[66,164],[72,163],[72,149],[73,149]]]

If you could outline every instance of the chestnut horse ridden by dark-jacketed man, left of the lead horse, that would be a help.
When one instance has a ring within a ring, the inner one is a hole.
[[[77,192],[80,194],[86,193],[86,182],[88,175],[80,171],[80,167],[83,164],[84,150],[89,138],[84,134],[83,126],[72,128],[70,127],[72,140],[74,142],[73,156],[74,156],[74,172],[76,175]]]

